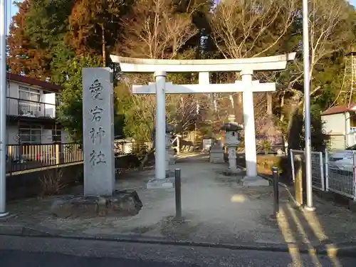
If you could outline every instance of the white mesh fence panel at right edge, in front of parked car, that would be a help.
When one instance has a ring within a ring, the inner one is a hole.
[[[327,150],[325,152],[325,177],[327,191],[352,199],[355,194],[356,152],[352,150]]]

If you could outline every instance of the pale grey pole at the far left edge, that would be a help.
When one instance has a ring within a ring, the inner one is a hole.
[[[0,218],[6,212],[6,1],[0,0]]]

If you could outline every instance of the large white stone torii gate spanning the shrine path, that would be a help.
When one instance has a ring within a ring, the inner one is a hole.
[[[276,90],[275,83],[259,83],[252,80],[253,71],[283,70],[287,61],[293,61],[295,53],[263,58],[239,59],[208,59],[208,60],[165,60],[125,58],[110,56],[112,62],[120,63],[122,73],[154,73],[155,83],[148,85],[133,85],[132,93],[156,94],[156,164],[155,179],[161,183],[166,179],[165,172],[165,94],[185,93],[243,93],[246,177],[244,184],[251,181],[251,185],[262,181],[257,175],[256,166],[256,132],[253,112],[253,93]],[[209,72],[240,72],[242,80],[232,84],[211,84]],[[174,85],[166,83],[167,73],[196,73],[199,72],[199,84]],[[261,182],[263,184],[263,182]]]

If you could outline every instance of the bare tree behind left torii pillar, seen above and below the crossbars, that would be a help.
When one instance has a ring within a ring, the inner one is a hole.
[[[192,58],[194,49],[187,49],[184,45],[198,30],[192,23],[192,16],[201,4],[196,1],[189,1],[182,5],[179,1],[170,0],[138,0],[132,8],[130,16],[123,19],[125,28],[124,40],[115,48],[115,51],[122,56],[136,58]],[[201,2],[201,3],[204,3]],[[179,11],[177,10],[179,6]],[[185,10],[182,10],[184,6]],[[182,79],[182,76],[174,77],[169,75],[167,80]],[[183,78],[184,80],[184,78]],[[130,86],[132,84],[146,84],[152,81],[150,75],[130,75],[123,83]],[[145,121],[145,135],[152,132],[155,122],[156,100],[155,95],[130,95],[132,98],[130,112],[135,112],[135,117],[139,117],[140,122]],[[189,112],[192,111],[192,104],[182,105],[180,95],[167,95],[167,117],[168,122],[180,124],[183,128],[191,123]],[[154,149],[151,150],[153,152]],[[148,159],[145,157],[142,166]]]

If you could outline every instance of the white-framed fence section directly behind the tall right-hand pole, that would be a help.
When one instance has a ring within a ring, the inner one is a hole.
[[[300,155],[304,161],[304,151],[303,150],[290,150],[290,164],[292,167],[293,181],[295,180],[295,155]],[[311,165],[312,165],[312,185],[314,189],[325,191],[325,171],[324,171],[324,160],[323,152],[312,152],[311,154]],[[300,168],[302,166],[298,166]]]

